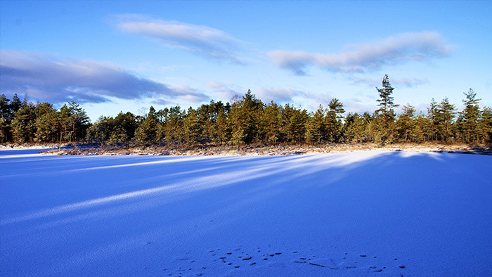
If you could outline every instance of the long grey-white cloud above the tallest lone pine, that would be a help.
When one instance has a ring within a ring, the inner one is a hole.
[[[354,44],[340,53],[308,53],[303,51],[270,51],[267,55],[278,67],[305,75],[306,67],[316,65],[332,72],[365,72],[397,65],[411,60],[429,60],[451,54],[438,32],[411,32],[398,34],[372,44]]]

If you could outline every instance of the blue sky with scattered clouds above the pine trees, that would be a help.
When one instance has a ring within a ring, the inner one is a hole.
[[[492,1],[0,1],[0,94],[91,121],[231,101],[492,107]]]

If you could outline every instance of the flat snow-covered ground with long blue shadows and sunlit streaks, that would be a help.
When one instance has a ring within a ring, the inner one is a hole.
[[[492,157],[0,151],[1,276],[491,276]]]

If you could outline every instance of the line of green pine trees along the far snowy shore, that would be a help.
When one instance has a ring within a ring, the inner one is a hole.
[[[294,105],[263,103],[251,91],[231,103],[210,101],[197,109],[179,106],[147,115],[120,112],[91,124],[85,110],[70,102],[59,110],[50,103],[0,96],[0,140],[13,143],[98,143],[106,146],[215,145],[278,143],[492,143],[492,109],[480,108],[477,94],[464,93],[459,111],[448,98],[429,103],[427,113],[403,105],[396,114],[394,88],[384,76],[373,113],[348,113],[333,98],[314,112]]]

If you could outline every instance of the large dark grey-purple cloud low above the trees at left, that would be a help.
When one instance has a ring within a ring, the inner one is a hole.
[[[60,60],[39,53],[2,50],[1,91],[27,94],[37,101],[103,103],[110,98],[189,98],[208,96],[189,88],[137,77],[121,67],[94,60]]]

